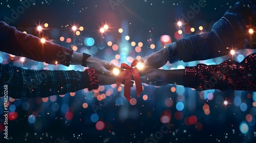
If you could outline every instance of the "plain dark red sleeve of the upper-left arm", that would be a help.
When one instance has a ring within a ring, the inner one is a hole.
[[[12,55],[26,57],[49,64],[70,65],[73,50],[58,44],[17,31],[7,23],[0,21],[0,50]]]

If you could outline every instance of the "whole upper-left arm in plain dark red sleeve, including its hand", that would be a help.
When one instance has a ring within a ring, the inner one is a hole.
[[[0,37],[0,50],[12,55],[49,64],[84,65],[108,76],[113,76],[113,68],[121,70],[120,67],[98,58],[89,57],[87,60],[82,60],[83,54],[50,41],[41,43],[40,38],[20,32],[4,21],[0,21]]]

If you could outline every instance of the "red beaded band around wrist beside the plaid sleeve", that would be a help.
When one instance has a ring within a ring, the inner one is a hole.
[[[94,68],[87,68],[88,76],[90,79],[90,86],[88,90],[98,89],[99,87],[99,77]]]

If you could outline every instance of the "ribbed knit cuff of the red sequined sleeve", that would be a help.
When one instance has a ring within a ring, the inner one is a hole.
[[[185,67],[184,87],[197,89],[197,66]]]

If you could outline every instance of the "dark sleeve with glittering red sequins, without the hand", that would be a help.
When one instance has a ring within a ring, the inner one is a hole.
[[[234,89],[256,91],[256,53],[241,63],[226,60],[219,65],[185,67],[184,86],[198,91]]]

